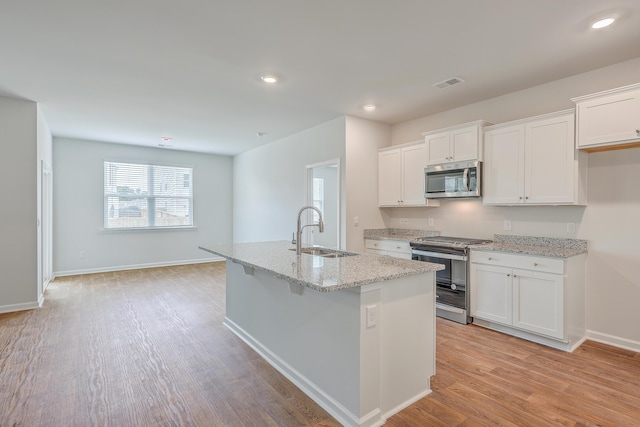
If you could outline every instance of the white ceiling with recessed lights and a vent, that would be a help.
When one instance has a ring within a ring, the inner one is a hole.
[[[0,54],[0,95],[40,103],[54,136],[236,154],[640,57],[640,1],[2,0]]]

